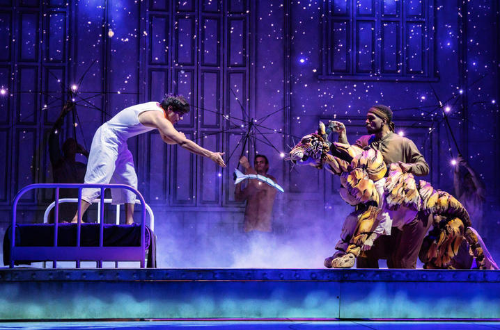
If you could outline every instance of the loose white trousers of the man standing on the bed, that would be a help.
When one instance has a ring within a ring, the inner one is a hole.
[[[88,155],[85,183],[125,184],[137,189],[137,174],[134,159],[127,147],[127,142],[103,124],[92,139],[91,152]],[[99,188],[84,188],[81,199],[92,204],[100,196]],[[127,189],[111,189],[113,204],[135,203],[136,195]]]

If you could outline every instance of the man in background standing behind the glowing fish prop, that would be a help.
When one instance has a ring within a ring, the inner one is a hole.
[[[245,169],[245,174],[260,174],[267,176],[276,182],[274,176],[267,174],[269,161],[264,155],[257,155],[253,163],[255,170],[251,168],[247,157],[240,158],[240,164]],[[258,180],[249,180],[247,187],[243,190],[241,183],[235,187],[235,199],[247,201],[245,208],[244,226],[245,233],[249,231],[272,231],[272,207],[276,198],[276,189]]]

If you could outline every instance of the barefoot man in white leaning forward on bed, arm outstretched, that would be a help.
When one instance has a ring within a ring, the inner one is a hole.
[[[205,156],[221,167],[226,167],[221,152],[204,149],[177,131],[173,125],[189,112],[189,104],[182,95],[166,94],[159,102],[147,102],[125,108],[100,126],[92,140],[88,156],[85,183],[130,185],[137,188],[137,175],[127,139],[157,129],[169,145],[178,144],[193,154]],[[81,192],[81,214],[99,197],[99,188],[84,188]],[[112,189],[113,204],[125,204],[127,224],[133,224],[136,195],[130,190]],[[78,213],[77,213],[78,214]],[[77,214],[72,222],[77,222]]]

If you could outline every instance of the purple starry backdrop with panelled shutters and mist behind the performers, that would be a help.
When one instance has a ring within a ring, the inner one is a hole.
[[[20,188],[52,182],[47,138],[67,99],[77,108],[61,141],[88,149],[118,111],[175,92],[192,104],[179,131],[225,151],[228,167],[155,131],[128,141],[160,267],[322,267],[350,207],[338,178],[283,156],[319,120],[345,123],[354,142],[377,103],[436,188],[453,193],[459,152],[481,176],[480,231],[500,257],[499,17],[486,0],[0,0],[0,233]],[[272,238],[242,233],[232,180],[242,153],[267,155],[286,190]],[[51,198],[25,195],[18,216],[41,222]]]

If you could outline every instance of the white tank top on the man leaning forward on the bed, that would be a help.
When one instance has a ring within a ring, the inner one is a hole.
[[[106,122],[109,129],[116,133],[116,136],[120,140],[127,140],[135,135],[146,133],[148,131],[153,131],[154,127],[144,126],[139,122],[139,115],[144,111],[160,111],[164,113],[164,110],[159,106],[158,102],[147,102],[143,104],[136,104],[135,106],[130,106],[121,110],[113,118]]]

